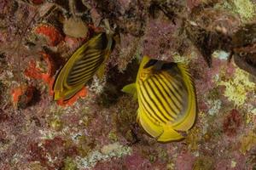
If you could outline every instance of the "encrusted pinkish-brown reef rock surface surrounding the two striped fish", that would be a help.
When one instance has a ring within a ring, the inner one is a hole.
[[[103,20],[104,77],[54,101]],[[0,21],[0,169],[256,169],[255,1],[0,0]],[[121,92],[145,54],[189,65],[198,111],[181,141],[150,138]]]

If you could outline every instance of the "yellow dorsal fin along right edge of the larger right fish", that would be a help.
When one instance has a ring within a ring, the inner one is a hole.
[[[177,67],[183,77],[184,85],[188,91],[188,106],[183,119],[180,122],[174,123],[172,126],[175,130],[188,131],[194,125],[196,117],[195,87],[187,66],[177,64]]]

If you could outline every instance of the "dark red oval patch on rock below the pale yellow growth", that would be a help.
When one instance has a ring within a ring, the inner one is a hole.
[[[236,109],[233,109],[224,119],[224,133],[228,136],[235,136],[239,127],[241,127],[241,115]]]

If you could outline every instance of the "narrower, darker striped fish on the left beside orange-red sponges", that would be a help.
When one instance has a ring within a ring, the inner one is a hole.
[[[78,48],[55,78],[54,99],[70,99],[96,73],[102,77],[111,47],[112,37],[102,32]]]

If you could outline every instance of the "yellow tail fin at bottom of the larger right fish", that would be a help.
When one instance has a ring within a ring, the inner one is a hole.
[[[179,140],[179,139],[183,139],[183,138],[184,138],[183,135],[181,135],[176,130],[174,130],[172,128],[172,126],[166,125],[164,127],[163,133],[160,134],[157,141],[159,141],[159,142],[169,142],[169,141],[172,141],[172,140]]]

